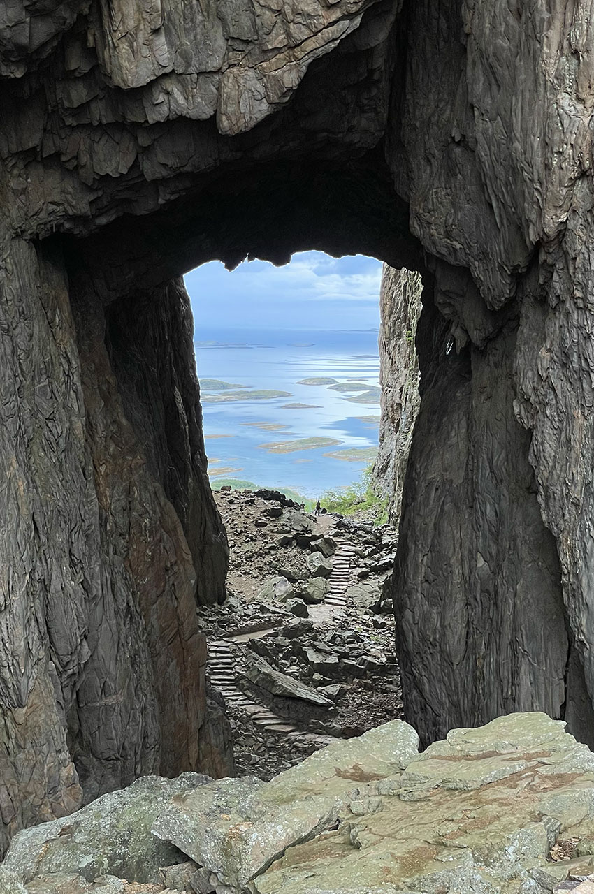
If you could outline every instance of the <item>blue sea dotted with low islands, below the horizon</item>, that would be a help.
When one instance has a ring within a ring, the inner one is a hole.
[[[377,331],[200,329],[195,346],[214,486],[239,479],[317,498],[361,477],[378,446]],[[312,378],[353,390],[300,384]]]

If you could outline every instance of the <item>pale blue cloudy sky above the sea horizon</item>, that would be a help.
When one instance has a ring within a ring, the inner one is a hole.
[[[210,261],[185,276],[200,331],[220,328],[379,328],[381,263],[363,255],[293,255],[290,264],[244,261],[229,272]]]

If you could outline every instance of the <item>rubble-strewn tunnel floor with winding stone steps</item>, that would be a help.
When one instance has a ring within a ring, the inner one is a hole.
[[[402,716],[382,596],[393,533],[314,519],[269,495],[219,492],[217,501],[230,540],[228,598],[201,619],[239,774],[269,779],[335,738]]]

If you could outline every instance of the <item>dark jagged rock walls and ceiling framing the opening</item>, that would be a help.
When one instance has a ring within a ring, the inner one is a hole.
[[[407,712],[424,739],[511,707],[591,730],[590,13],[4,4],[4,842],[77,772],[93,797],[199,761],[225,537],[175,277],[214,257],[423,274]]]

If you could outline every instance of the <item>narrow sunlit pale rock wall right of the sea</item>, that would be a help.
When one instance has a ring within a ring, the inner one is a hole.
[[[387,502],[388,520],[395,527],[400,520],[404,473],[420,405],[415,342],[421,292],[420,274],[384,265],[379,293],[381,416],[373,479],[378,495]]]

